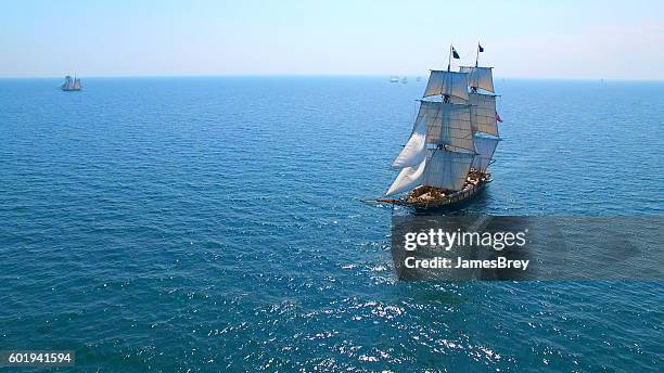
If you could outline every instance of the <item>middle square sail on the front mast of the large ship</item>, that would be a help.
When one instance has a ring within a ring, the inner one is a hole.
[[[474,152],[470,105],[420,101],[419,123],[426,124],[427,143]]]

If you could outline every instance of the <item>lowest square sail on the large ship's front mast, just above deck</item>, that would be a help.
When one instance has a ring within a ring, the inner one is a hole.
[[[459,191],[463,188],[474,154],[436,150],[426,167],[424,184]]]

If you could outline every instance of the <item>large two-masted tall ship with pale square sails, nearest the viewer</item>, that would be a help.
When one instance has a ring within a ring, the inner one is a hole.
[[[487,171],[500,141],[493,67],[452,72],[459,54],[450,46],[446,70],[431,70],[410,138],[392,164],[399,170],[378,203],[416,209],[450,207],[469,201],[491,182]],[[395,197],[397,196],[397,197]],[[392,198],[388,198],[392,197]]]

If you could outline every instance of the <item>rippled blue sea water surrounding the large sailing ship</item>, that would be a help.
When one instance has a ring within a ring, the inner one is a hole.
[[[58,82],[0,80],[0,350],[100,372],[662,370],[661,283],[395,280],[391,211],[358,200],[395,176],[424,82]],[[496,83],[505,141],[470,210],[664,214],[664,83]]]

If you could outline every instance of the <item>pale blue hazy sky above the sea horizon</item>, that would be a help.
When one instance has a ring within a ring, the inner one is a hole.
[[[425,75],[664,79],[664,1],[2,1],[0,77]]]

